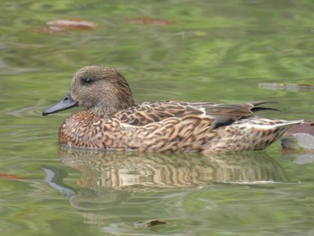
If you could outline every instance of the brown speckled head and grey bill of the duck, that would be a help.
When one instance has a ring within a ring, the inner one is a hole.
[[[83,106],[100,115],[112,115],[134,106],[132,92],[122,74],[107,66],[84,66],[72,79],[70,91],[62,101],[42,112],[43,116]]]

